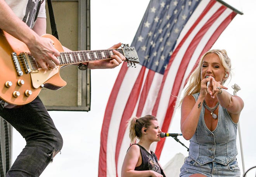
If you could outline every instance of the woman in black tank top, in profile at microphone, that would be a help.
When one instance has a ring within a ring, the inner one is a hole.
[[[132,145],[125,155],[121,177],[165,177],[156,155],[149,150],[153,142],[160,141],[161,129],[156,117],[134,117],[129,122]],[[134,144],[136,138],[139,142]]]

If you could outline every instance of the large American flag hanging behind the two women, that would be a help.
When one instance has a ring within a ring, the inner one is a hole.
[[[237,13],[216,0],[150,0],[131,43],[140,64],[122,65],[102,124],[99,177],[121,176],[130,117],[155,115],[167,132],[190,72]],[[152,144],[160,158],[164,139]]]

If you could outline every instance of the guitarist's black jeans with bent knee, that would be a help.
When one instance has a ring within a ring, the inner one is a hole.
[[[38,177],[52,161],[53,153],[60,151],[63,145],[61,134],[42,101],[37,97],[27,105],[4,108],[0,110],[0,116],[26,140],[25,148],[6,177]]]

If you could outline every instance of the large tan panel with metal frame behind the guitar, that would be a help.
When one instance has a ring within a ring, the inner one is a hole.
[[[90,0],[52,0],[59,41],[73,51],[90,50]],[[48,6],[47,33],[52,34]],[[59,90],[43,88],[39,96],[47,110],[90,111],[90,69],[75,65],[60,69],[67,85]]]

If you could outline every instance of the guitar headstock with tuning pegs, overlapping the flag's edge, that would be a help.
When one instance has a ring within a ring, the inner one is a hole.
[[[138,59],[138,54],[134,47],[129,47],[128,44],[122,44],[121,47],[123,48],[123,52],[126,58],[127,66],[128,67],[136,67],[136,63],[139,63],[140,60]]]

